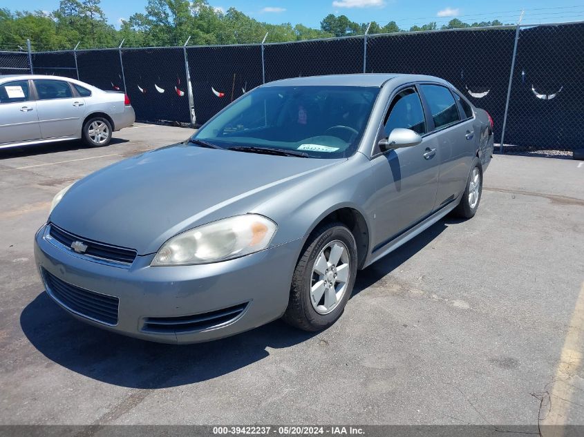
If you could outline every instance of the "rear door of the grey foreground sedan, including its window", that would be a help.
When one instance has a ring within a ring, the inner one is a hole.
[[[422,84],[420,92],[429,113],[430,136],[437,144],[440,160],[435,210],[457,199],[467,184],[475,154],[473,120],[459,112],[450,88]]]

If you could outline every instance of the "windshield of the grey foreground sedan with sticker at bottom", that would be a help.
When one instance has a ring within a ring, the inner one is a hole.
[[[378,93],[379,88],[360,86],[256,88],[211,119],[191,142],[255,153],[348,157],[357,150]]]

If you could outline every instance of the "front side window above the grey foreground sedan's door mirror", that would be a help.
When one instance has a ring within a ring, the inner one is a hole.
[[[426,122],[422,101],[414,88],[400,91],[391,102],[385,119],[385,136],[395,128],[411,129],[423,135]]]

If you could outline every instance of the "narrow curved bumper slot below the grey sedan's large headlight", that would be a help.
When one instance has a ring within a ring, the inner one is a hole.
[[[209,329],[220,324],[231,322],[243,313],[245,307],[247,307],[247,303],[196,315],[147,317],[144,319],[142,331],[158,333],[202,331],[203,329]]]

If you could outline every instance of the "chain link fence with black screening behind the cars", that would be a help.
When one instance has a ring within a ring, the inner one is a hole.
[[[238,46],[0,52],[0,75],[125,91],[136,118],[200,125],[256,86],[358,72],[434,75],[487,110],[505,152],[584,148],[584,23],[361,35]],[[512,70],[512,71],[511,71]]]

